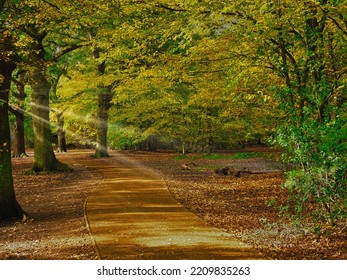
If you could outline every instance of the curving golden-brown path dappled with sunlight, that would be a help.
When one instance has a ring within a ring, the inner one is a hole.
[[[101,259],[266,259],[179,204],[153,170],[120,154],[64,162],[100,170],[104,181],[86,202]]]

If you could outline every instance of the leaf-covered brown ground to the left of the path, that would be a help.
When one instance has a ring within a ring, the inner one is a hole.
[[[24,175],[31,163],[31,157],[13,159],[17,200],[29,217],[0,224],[0,259],[96,259],[84,204],[103,175],[81,167]]]

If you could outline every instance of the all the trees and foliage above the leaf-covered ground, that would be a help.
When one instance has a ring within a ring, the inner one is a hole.
[[[288,210],[347,218],[345,0],[0,0],[0,219],[11,157],[54,149],[283,152]],[[24,209],[25,210],[25,209]]]

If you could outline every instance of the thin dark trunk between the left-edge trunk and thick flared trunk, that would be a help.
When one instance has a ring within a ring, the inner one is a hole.
[[[24,101],[25,101],[25,92],[24,92],[24,78],[25,72],[20,71],[18,74],[18,81],[16,84],[17,93],[14,94],[18,100],[17,108],[13,109],[15,115],[15,126],[14,126],[14,139],[13,139],[13,156],[21,157],[26,156],[25,152],[25,133],[24,133]]]

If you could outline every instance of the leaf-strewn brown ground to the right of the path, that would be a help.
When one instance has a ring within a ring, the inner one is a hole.
[[[223,166],[271,170],[276,163],[263,158],[209,160],[198,157],[194,170],[182,170],[175,154],[129,153],[127,156],[156,169],[172,195],[211,225],[253,244],[273,259],[347,259],[347,231],[343,224],[314,233],[312,224],[293,223],[280,215],[287,199],[279,172],[235,178],[216,175]]]

